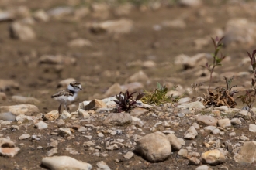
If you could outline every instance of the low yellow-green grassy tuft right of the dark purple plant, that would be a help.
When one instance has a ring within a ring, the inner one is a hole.
[[[173,87],[172,90],[175,90],[176,87]],[[173,103],[178,102],[179,98],[171,96],[167,97],[166,94],[168,93],[168,88],[162,86],[161,83],[157,83],[157,88],[153,91],[144,91],[144,97],[142,97],[141,101],[144,104],[166,104],[166,103]]]

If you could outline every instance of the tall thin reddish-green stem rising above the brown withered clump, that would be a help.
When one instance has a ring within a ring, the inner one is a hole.
[[[213,70],[216,68],[216,66],[221,66],[221,62],[223,61],[223,59],[225,59],[226,56],[223,56],[222,53],[220,53],[220,57],[218,57],[218,53],[220,52],[220,49],[223,48],[223,43],[221,43],[221,41],[223,40],[224,37],[222,37],[221,39],[218,39],[218,37],[216,37],[216,39],[212,38],[213,41],[213,45],[214,45],[214,53],[212,54],[213,56],[213,64],[209,64],[206,63],[205,66],[202,66],[204,68],[206,68],[207,70],[209,70],[209,87],[208,87],[208,91],[212,85],[213,82]]]

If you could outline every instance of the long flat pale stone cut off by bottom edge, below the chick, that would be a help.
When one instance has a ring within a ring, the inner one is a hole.
[[[90,170],[92,165],[68,156],[53,156],[42,159],[42,165],[51,170]]]

